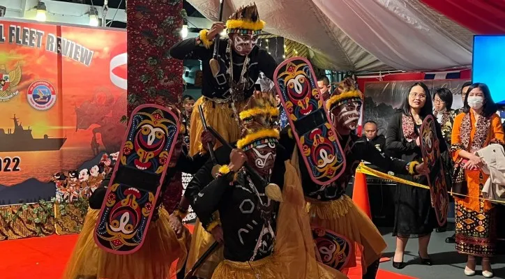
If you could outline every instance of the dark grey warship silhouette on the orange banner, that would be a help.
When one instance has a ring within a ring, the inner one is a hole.
[[[42,139],[34,139],[31,135],[31,128],[24,129],[14,114],[14,129],[6,130],[0,128],[0,152],[15,151],[54,151],[61,149],[66,142],[66,137],[50,137],[44,135]]]

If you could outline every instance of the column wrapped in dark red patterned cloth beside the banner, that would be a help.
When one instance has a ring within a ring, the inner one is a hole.
[[[168,50],[181,40],[182,0],[128,0],[128,114],[138,105],[178,105],[182,61]]]

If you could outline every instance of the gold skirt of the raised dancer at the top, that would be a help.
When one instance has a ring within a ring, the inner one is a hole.
[[[245,102],[242,102],[237,105],[237,112],[241,112],[244,104]],[[234,116],[232,105],[230,103],[214,103],[202,96],[196,101],[195,109],[191,113],[190,156],[195,156],[196,153],[202,151],[200,137],[204,131],[204,126],[198,111],[199,105],[202,105],[205,121],[208,126],[216,130],[227,142],[236,142],[239,140],[240,128]],[[220,142],[216,142],[214,149],[217,149],[219,146],[221,146]]]

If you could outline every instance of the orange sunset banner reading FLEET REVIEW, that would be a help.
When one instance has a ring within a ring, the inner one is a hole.
[[[125,114],[125,31],[0,20],[0,205],[101,180]]]

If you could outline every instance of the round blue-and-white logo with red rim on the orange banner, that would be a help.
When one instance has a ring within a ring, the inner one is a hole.
[[[45,80],[33,82],[27,91],[28,103],[36,110],[49,110],[56,103],[56,89]]]

